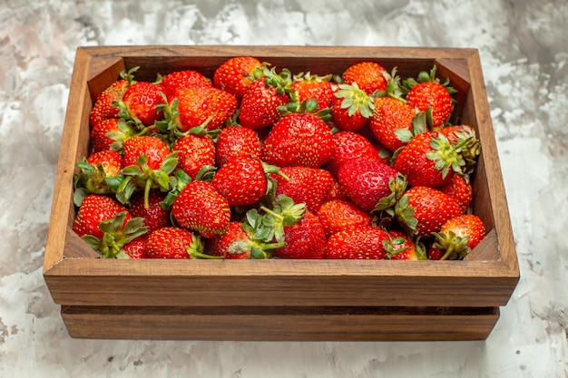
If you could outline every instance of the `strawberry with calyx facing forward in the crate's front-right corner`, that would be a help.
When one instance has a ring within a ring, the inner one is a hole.
[[[485,225],[476,215],[465,214],[448,219],[435,237],[431,259],[463,259],[485,237]]]

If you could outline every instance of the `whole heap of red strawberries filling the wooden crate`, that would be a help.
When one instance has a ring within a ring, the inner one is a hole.
[[[101,257],[460,259],[485,237],[479,142],[436,68],[135,72],[96,99],[76,165],[73,230]]]

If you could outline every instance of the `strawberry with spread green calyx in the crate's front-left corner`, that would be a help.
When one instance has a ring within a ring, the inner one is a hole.
[[[101,257],[123,257],[122,247],[146,233],[142,218],[132,218],[121,204],[107,196],[90,194],[83,199],[73,231]]]

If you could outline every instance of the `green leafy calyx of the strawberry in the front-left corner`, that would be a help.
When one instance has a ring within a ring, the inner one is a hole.
[[[122,211],[115,218],[103,220],[99,224],[102,238],[93,235],[83,235],[81,238],[103,258],[130,258],[122,247],[144,235],[148,229],[144,226],[144,218],[130,218],[124,223],[125,218],[126,212]]]

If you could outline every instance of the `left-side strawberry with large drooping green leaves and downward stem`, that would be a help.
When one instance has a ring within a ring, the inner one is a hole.
[[[144,190],[144,206],[148,208],[150,189],[170,189],[170,174],[178,164],[177,152],[154,136],[132,137],[124,141],[124,168],[126,176],[117,189],[117,199],[127,203],[137,189]]]

